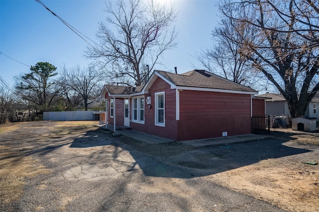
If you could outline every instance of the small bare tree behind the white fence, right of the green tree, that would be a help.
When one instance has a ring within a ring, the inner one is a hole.
[[[88,105],[99,97],[102,77],[93,67],[81,69],[79,66],[70,70],[64,67],[61,75],[59,83],[69,104],[73,107],[80,104],[87,111]]]

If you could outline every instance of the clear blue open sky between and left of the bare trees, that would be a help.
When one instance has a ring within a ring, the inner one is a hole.
[[[97,42],[98,22],[107,13],[105,0],[41,0],[48,8],[78,31]],[[165,0],[159,0],[165,1]],[[173,1],[179,11],[175,28],[177,48],[162,55],[164,66],[156,69],[178,73],[203,69],[193,56],[210,44],[211,30],[217,26],[217,0]],[[98,43],[98,42],[97,42]],[[35,0],[0,0],[0,51],[29,66],[49,62],[57,67],[86,66],[83,57],[86,42],[67,28]],[[0,55],[0,76],[13,87],[13,76],[29,72],[29,68],[3,54]]]

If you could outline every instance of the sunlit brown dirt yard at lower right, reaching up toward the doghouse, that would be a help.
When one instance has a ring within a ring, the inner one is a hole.
[[[318,211],[319,165],[307,163],[319,162],[319,133],[276,129],[272,135],[286,141],[284,145],[313,151],[261,160],[207,179],[287,211]]]

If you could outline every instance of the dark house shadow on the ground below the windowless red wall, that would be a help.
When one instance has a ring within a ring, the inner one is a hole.
[[[261,140],[234,143],[220,146],[205,146],[194,150],[179,152],[175,155],[160,158],[155,165],[150,166],[144,160],[136,158],[130,151],[147,176],[155,177],[200,177],[251,165],[261,160],[281,158],[311,150],[289,147],[280,140]],[[177,166],[191,175],[172,171]],[[152,169],[153,167],[153,169]]]

